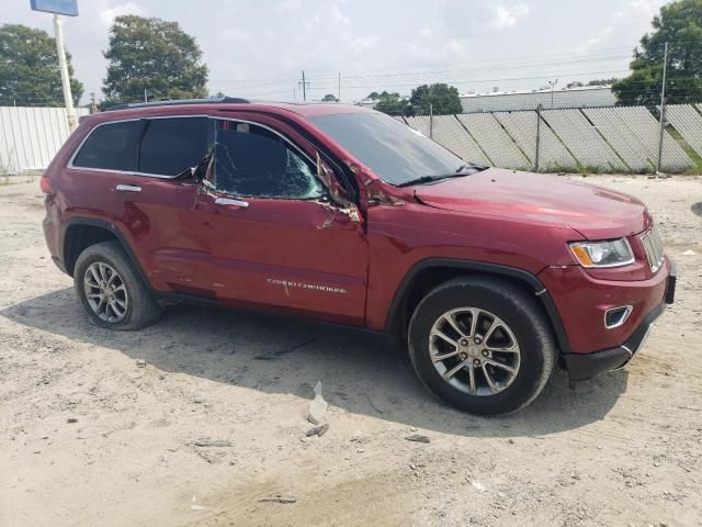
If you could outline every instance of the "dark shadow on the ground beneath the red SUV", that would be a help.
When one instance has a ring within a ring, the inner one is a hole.
[[[463,436],[543,436],[577,428],[604,417],[627,383],[622,370],[570,390],[561,371],[528,408],[482,418],[433,397],[406,352],[359,329],[179,303],[168,305],[151,327],[111,332],[88,322],[71,288],[20,302],[0,315],[115,349],[160,370],[265,393],[312,399],[320,380],[325,399],[348,412]]]

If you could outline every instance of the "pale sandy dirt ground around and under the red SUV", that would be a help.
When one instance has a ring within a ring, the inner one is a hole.
[[[648,203],[677,302],[625,370],[559,372],[500,418],[354,330],[191,305],[97,328],[38,182],[0,187],[0,526],[702,525],[702,179],[588,181]],[[307,438],[318,380],[329,430]]]

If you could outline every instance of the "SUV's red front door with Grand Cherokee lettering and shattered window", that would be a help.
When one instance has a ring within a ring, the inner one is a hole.
[[[273,126],[215,120],[215,153],[201,203],[213,288],[224,303],[280,307],[362,324],[367,240],[340,212],[309,149]],[[291,137],[293,136],[293,137]]]

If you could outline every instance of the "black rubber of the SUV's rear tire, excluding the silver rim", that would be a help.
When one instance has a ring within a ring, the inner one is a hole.
[[[128,299],[126,313],[118,322],[109,322],[98,316],[88,301],[83,281],[89,267],[95,262],[106,264],[114,269],[126,288]],[[124,248],[116,240],[91,245],[78,256],[73,269],[73,284],[90,322],[97,326],[131,332],[154,324],[161,315],[161,307],[156,296],[144,283]]]

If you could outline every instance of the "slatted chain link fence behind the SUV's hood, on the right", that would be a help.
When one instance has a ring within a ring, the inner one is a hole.
[[[656,113],[658,109],[654,109]],[[702,105],[522,110],[399,117],[467,161],[535,171],[647,173],[702,169]]]

